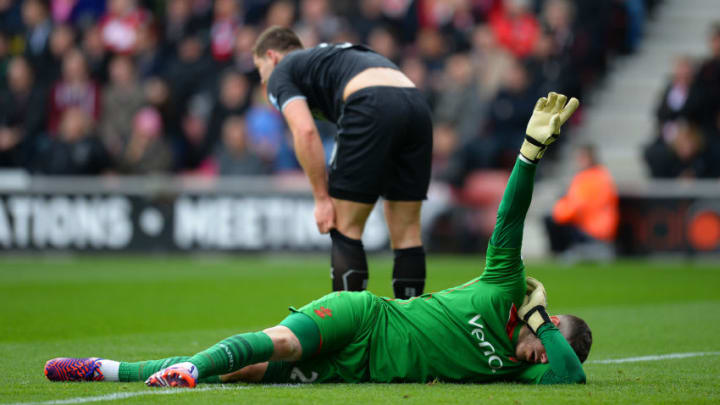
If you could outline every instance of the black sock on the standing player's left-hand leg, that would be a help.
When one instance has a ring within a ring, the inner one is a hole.
[[[363,291],[367,288],[368,269],[362,241],[348,238],[336,229],[330,230],[330,239],[333,291]]]

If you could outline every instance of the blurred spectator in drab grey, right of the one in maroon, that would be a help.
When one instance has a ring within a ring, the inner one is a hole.
[[[103,90],[100,137],[115,158],[125,149],[135,113],[145,103],[132,59],[118,55],[110,62],[110,84]]]

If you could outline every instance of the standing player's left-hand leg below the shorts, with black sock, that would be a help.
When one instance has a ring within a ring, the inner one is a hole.
[[[333,291],[367,288],[368,265],[362,233],[374,204],[333,198],[336,228],[330,231],[330,277]]]

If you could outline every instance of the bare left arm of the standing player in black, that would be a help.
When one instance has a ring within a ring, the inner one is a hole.
[[[310,107],[304,98],[295,98],[283,106],[282,113],[293,135],[295,155],[310,180],[318,229],[327,233],[335,226],[335,210],[328,194],[325,150]]]

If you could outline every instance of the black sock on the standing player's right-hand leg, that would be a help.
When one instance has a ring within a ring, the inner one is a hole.
[[[393,291],[395,298],[422,295],[425,289],[425,249],[422,246],[395,249]]]

